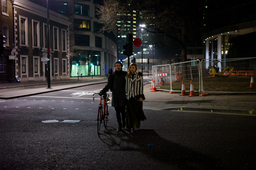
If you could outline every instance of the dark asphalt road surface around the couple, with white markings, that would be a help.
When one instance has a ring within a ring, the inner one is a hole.
[[[256,124],[250,115],[144,110],[134,133],[110,121],[97,134],[103,84],[0,101],[0,169],[255,169]],[[56,123],[42,121],[56,120]],[[78,120],[77,123],[60,123]]]

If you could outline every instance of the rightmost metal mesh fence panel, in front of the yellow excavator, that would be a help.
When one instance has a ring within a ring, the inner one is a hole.
[[[236,59],[203,59],[201,61],[202,93],[256,93],[250,87],[256,75],[256,57]]]

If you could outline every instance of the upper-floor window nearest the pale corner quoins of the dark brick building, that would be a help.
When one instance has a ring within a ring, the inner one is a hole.
[[[20,45],[28,45],[28,18],[20,16]]]

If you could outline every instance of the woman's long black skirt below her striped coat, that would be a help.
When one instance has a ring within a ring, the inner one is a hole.
[[[146,119],[142,110],[142,101],[139,102],[134,97],[126,101],[126,128],[139,128],[140,121]]]

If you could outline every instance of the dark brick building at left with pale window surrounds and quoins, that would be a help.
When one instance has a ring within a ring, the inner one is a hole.
[[[4,19],[1,19],[2,28],[8,27],[7,48],[2,56],[2,61],[6,60],[6,67],[2,67],[2,70],[4,68],[6,71],[4,76],[8,77],[8,83],[13,82],[10,79],[14,79],[14,75],[21,82],[45,81],[46,65],[41,58],[48,57],[47,9],[27,0],[14,0],[12,3],[9,0],[6,1],[8,14],[4,15],[2,12]],[[69,25],[71,22],[68,21],[68,17],[53,11],[49,11],[49,19],[50,79],[69,79]],[[15,55],[12,63],[9,62],[9,55]],[[6,82],[6,78],[0,76],[1,82]]]

